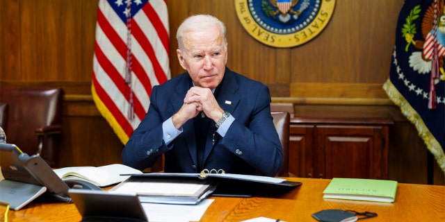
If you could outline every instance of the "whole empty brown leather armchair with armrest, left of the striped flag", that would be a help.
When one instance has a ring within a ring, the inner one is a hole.
[[[6,142],[57,167],[62,100],[63,89],[57,87],[1,87],[0,102],[8,104]]]

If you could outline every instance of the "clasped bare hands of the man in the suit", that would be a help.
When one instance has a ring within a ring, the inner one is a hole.
[[[202,87],[191,87],[184,98],[184,104],[172,117],[175,128],[181,128],[188,119],[192,119],[200,112],[217,122],[223,117],[223,109],[213,96],[211,89]]]

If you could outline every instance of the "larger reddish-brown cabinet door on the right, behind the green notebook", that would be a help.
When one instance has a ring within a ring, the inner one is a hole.
[[[384,127],[317,126],[314,154],[317,176],[387,179]]]

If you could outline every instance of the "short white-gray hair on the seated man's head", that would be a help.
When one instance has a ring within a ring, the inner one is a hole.
[[[181,23],[176,33],[179,50],[183,51],[184,49],[184,31],[198,31],[214,25],[220,26],[220,32],[221,35],[223,35],[222,37],[224,42],[224,50],[227,51],[225,25],[223,22],[220,21],[220,19],[213,17],[212,15],[192,15],[191,17],[186,18],[184,22]]]

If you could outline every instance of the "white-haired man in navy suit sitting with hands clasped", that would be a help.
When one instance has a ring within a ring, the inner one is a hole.
[[[153,87],[147,115],[122,151],[124,164],[143,170],[165,153],[165,172],[275,176],[280,139],[266,85],[225,67],[225,25],[193,15],[177,31],[184,74]]]

